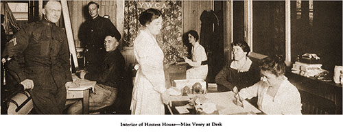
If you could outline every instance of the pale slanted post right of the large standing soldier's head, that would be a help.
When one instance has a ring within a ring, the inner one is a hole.
[[[67,33],[69,51],[71,53],[71,57],[73,58],[75,68],[78,68],[79,64],[78,64],[78,58],[76,57],[76,49],[75,49],[75,43],[74,43],[74,38],[73,38],[73,32],[71,31],[71,23],[70,23],[67,1],[61,0],[61,5],[62,5],[65,31]]]

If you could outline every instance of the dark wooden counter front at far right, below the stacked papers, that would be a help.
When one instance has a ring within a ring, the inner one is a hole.
[[[342,114],[342,85],[290,71],[286,71],[285,75],[299,90],[303,114]]]

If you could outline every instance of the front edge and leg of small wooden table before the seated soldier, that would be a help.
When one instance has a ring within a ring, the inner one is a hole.
[[[89,114],[89,92],[91,88],[84,90],[67,90],[67,99],[82,99],[82,113]]]

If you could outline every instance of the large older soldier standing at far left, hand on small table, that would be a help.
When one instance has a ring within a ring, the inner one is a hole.
[[[8,68],[19,76],[25,89],[31,90],[34,112],[62,114],[66,86],[71,85],[69,48],[60,20],[61,4],[43,2],[42,21],[29,23],[10,40],[3,55],[13,57]]]

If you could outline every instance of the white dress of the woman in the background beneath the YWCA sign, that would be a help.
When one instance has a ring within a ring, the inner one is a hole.
[[[205,60],[207,60],[205,49],[199,42],[196,42],[192,49],[192,62],[189,63],[193,67],[187,70],[187,79],[206,79],[209,66],[201,65],[201,62]]]

